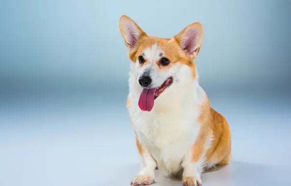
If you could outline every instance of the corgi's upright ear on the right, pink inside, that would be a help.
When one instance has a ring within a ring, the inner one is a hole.
[[[194,59],[200,50],[203,40],[203,27],[201,23],[192,23],[184,28],[179,34],[174,36],[179,46],[185,51],[187,56]]]

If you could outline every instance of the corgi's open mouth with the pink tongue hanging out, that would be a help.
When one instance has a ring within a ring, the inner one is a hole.
[[[166,90],[173,82],[173,77],[169,77],[158,88],[144,88],[139,99],[139,107],[142,111],[151,111],[154,106],[154,100]]]

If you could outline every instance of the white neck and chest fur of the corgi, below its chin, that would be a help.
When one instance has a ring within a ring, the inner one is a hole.
[[[182,97],[159,96],[152,111],[143,112],[138,107],[138,96],[129,94],[133,129],[165,175],[181,169],[181,161],[199,133],[199,104],[191,91]]]

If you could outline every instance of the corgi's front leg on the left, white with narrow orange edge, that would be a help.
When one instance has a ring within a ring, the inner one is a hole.
[[[133,186],[145,186],[153,184],[157,165],[149,151],[143,146],[136,138],[136,146],[140,154],[140,171],[138,175],[133,179],[130,185]]]

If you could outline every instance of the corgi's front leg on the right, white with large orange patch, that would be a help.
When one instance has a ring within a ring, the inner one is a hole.
[[[204,168],[205,154],[210,146],[211,139],[199,139],[189,148],[185,155],[182,167],[183,186],[201,186],[201,172]]]

